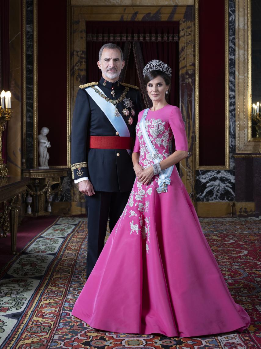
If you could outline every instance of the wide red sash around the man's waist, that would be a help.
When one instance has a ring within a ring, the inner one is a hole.
[[[133,138],[119,136],[90,136],[89,148],[133,149]]]

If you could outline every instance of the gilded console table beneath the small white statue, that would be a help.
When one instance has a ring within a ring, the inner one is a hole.
[[[52,185],[61,183],[61,177],[66,177],[69,168],[50,167],[46,169],[24,169],[23,175],[30,178],[30,184],[27,187],[27,192],[33,192],[33,216],[49,215],[50,211],[46,209],[46,199],[52,194]],[[50,207],[50,206],[49,206]]]

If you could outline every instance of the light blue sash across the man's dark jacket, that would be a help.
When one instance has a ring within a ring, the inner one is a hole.
[[[97,90],[103,93],[103,91],[95,86]],[[128,126],[126,125],[126,122],[120,115],[119,117],[115,116],[115,110],[117,111],[116,107],[111,102],[106,102],[104,98],[99,96],[97,92],[95,92],[94,89],[91,87],[86,87],[85,91],[89,94],[90,97],[94,100],[94,102],[98,105],[98,107],[101,108],[101,110],[104,112],[112,126],[116,129],[116,131],[119,133],[119,136],[121,137],[130,137]],[[130,149],[126,149],[129,155],[132,154],[132,151]]]

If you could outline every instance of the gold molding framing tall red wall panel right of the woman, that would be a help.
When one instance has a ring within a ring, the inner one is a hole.
[[[199,165],[199,0],[195,0],[195,27],[196,27],[196,81],[195,81],[195,128],[196,128],[196,170],[229,170],[229,0],[225,0],[225,165],[224,166],[200,166]]]

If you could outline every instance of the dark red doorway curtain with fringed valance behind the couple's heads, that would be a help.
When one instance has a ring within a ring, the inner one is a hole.
[[[179,22],[86,22],[87,80],[98,81],[98,52],[108,42],[119,45],[124,51],[126,71],[121,80],[141,89],[145,98],[142,69],[153,59],[160,59],[172,68],[169,103],[179,103]]]

